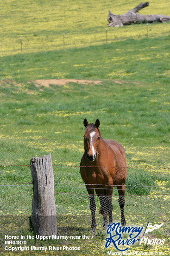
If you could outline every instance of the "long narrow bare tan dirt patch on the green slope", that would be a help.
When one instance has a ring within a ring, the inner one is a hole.
[[[62,86],[70,82],[78,83],[78,84],[101,84],[102,83],[102,81],[100,80],[94,81],[94,80],[79,80],[79,79],[49,79],[49,80],[41,79],[41,80],[34,81],[34,84],[37,87],[40,87],[40,86],[50,87],[50,84]]]

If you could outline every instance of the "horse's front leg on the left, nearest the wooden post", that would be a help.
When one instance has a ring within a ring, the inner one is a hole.
[[[92,232],[95,230],[96,228],[96,222],[95,222],[95,210],[96,210],[96,204],[95,204],[95,200],[94,200],[94,189],[91,188],[87,188],[88,190],[88,194],[89,194],[89,200],[90,200],[90,210],[91,210],[91,216],[92,216]]]

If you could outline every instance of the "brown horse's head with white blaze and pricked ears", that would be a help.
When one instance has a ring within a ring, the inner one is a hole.
[[[84,149],[87,152],[88,161],[93,162],[96,158],[96,150],[101,138],[101,132],[99,130],[100,121],[96,119],[94,123],[88,123],[87,119],[84,119],[85,133],[84,133]]]

